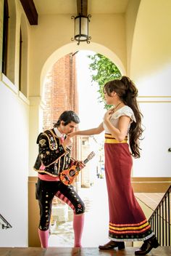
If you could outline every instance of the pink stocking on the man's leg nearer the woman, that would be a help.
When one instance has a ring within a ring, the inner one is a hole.
[[[74,215],[73,229],[75,235],[74,247],[81,247],[81,237],[83,233],[84,214]]]

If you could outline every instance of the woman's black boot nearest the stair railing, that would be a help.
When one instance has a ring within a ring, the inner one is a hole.
[[[143,245],[140,249],[135,251],[135,255],[146,255],[153,248],[159,247],[156,236],[152,236],[150,239],[143,242]]]

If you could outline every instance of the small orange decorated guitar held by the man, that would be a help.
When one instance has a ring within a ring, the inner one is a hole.
[[[88,157],[83,161],[84,164],[87,164],[88,161],[90,161],[93,156],[95,156],[95,153],[92,151]],[[64,169],[60,174],[59,174],[59,179],[64,183],[64,185],[70,185],[74,182],[75,177],[79,174],[80,172],[80,167],[79,164],[77,165],[72,165],[70,169]]]

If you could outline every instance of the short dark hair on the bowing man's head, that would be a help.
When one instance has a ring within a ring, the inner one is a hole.
[[[64,126],[66,126],[67,124],[70,124],[71,121],[74,121],[75,124],[80,123],[80,119],[74,111],[64,111],[59,116],[59,119],[57,123],[54,124],[54,127],[59,127],[59,125],[61,124],[61,121],[64,121]]]

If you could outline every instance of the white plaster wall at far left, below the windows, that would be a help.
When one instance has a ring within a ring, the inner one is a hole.
[[[0,213],[12,228],[0,228],[0,247],[27,247],[29,105],[6,82],[10,88],[0,81]]]

